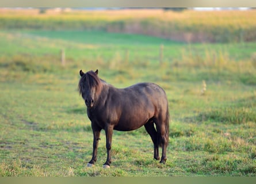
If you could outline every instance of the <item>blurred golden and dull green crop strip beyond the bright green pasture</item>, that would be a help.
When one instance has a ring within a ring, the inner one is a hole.
[[[193,42],[256,40],[256,11],[9,10],[0,9],[1,29],[104,30]]]

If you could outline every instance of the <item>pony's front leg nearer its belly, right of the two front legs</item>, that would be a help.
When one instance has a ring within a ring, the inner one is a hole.
[[[111,163],[111,144],[112,144],[112,135],[113,135],[113,125],[107,125],[105,128],[106,133],[106,152],[107,152],[107,158],[106,162],[104,163],[104,168],[109,168]]]

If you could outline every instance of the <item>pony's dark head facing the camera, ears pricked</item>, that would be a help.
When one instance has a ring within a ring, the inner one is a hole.
[[[101,87],[101,80],[98,78],[98,70],[88,71],[84,73],[82,70],[79,71],[81,79],[78,83],[79,93],[85,100],[87,108],[92,108],[97,100],[97,92]]]

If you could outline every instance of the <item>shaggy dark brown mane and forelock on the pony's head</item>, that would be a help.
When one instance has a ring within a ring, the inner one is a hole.
[[[82,94],[82,85],[83,83],[87,83],[89,87],[95,87],[100,86],[101,79],[98,77],[98,75],[94,71],[88,71],[86,72],[80,79],[78,83],[78,89],[79,93]]]

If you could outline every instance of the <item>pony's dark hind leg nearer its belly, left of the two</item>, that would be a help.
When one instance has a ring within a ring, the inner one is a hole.
[[[152,120],[148,121],[144,125],[144,127],[146,128],[147,133],[150,135],[150,137],[154,143],[154,159],[160,160],[159,150],[158,150],[159,145],[158,145],[158,141],[157,141],[157,132],[154,127],[154,122]]]

